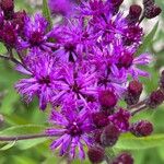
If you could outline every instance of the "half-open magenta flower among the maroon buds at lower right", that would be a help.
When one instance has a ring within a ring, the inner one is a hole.
[[[108,119],[122,132],[129,130],[130,113],[120,108],[117,113],[109,116]]]

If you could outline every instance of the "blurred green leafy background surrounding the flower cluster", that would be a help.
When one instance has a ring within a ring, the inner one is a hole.
[[[40,2],[39,0],[38,2]],[[15,0],[16,10],[25,9],[30,13],[39,9],[40,4],[34,5],[31,0]],[[36,1],[35,1],[36,2]],[[127,0],[131,3],[131,0]],[[136,1],[133,1],[136,2]],[[140,2],[140,1],[139,1]],[[164,10],[164,1],[156,1]],[[144,68],[152,73],[152,79],[141,79],[145,84],[144,94],[157,87],[159,72],[164,66],[164,12],[160,17],[152,21],[144,21],[143,26],[145,33],[150,33],[153,25],[160,20],[160,25],[154,39],[153,32],[147,39],[147,50],[154,55],[154,63],[149,68]],[[148,28],[150,27],[150,28]],[[5,48],[0,45],[0,54],[5,54]],[[25,133],[37,133],[43,131],[47,125],[48,112],[42,113],[37,107],[37,99],[26,105],[14,90],[14,83],[21,75],[13,70],[13,65],[8,61],[0,60],[0,115],[4,117],[4,122],[0,125],[0,136],[14,136]],[[144,96],[143,94],[143,96]],[[125,136],[120,139],[116,148],[113,150],[119,152],[128,150],[132,152],[136,164],[164,164],[164,106],[160,106],[156,110],[147,112],[138,115],[136,119],[148,119],[154,122],[154,134],[148,139],[138,139],[131,136]],[[27,141],[17,141],[3,143],[0,142],[0,164],[59,164],[66,163],[65,157],[58,157],[55,152],[49,150],[50,141],[46,139],[35,139]],[[110,150],[112,151],[112,150]],[[74,164],[82,163],[74,161]],[[83,163],[90,163],[87,160]]]

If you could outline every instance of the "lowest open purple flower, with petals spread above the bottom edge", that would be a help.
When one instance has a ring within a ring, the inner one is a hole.
[[[92,144],[89,133],[92,131],[92,125],[87,117],[87,112],[82,106],[78,106],[70,101],[63,104],[61,112],[52,110],[49,121],[55,126],[46,130],[49,137],[58,137],[50,148],[52,150],[60,147],[60,155],[69,154],[71,159],[75,157],[75,151],[79,150],[79,157],[84,159],[84,143]],[[59,127],[59,128],[57,128]]]

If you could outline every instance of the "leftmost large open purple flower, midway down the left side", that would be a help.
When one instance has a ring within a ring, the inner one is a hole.
[[[34,55],[31,54],[24,62],[26,63],[25,68],[19,66],[16,69],[30,78],[20,80],[15,87],[27,103],[37,96],[39,108],[44,110],[55,94],[54,82],[58,77],[55,71],[56,60],[49,54],[36,51]]]

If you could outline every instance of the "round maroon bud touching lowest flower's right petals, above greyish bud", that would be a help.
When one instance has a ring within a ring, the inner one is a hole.
[[[106,127],[109,124],[107,116],[104,113],[94,113],[92,114],[93,124],[97,128]]]

